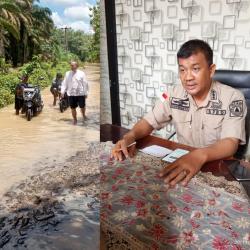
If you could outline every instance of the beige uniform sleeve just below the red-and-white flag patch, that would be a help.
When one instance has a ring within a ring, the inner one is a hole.
[[[171,120],[171,110],[168,101],[157,101],[152,111],[144,119],[154,128],[161,129]]]

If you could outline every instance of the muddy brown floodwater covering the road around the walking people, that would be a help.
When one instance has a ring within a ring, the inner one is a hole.
[[[49,88],[42,92],[42,113],[30,122],[16,116],[13,105],[0,110],[0,196],[41,168],[83,150],[86,141],[99,140],[99,65],[87,65],[84,71],[90,85],[85,124],[78,110],[78,125],[72,126],[70,109],[60,113]]]

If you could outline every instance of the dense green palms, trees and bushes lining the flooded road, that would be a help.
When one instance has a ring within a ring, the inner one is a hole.
[[[72,59],[98,62],[100,49],[99,3],[90,9],[94,34],[57,29],[49,8],[37,0],[0,0],[0,107],[14,100],[23,73],[30,82],[46,87],[56,72],[65,73]]]

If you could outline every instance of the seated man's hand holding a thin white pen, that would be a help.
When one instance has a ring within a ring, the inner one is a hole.
[[[132,145],[132,146],[128,147],[133,142],[134,142],[134,140],[128,140],[125,138],[122,140],[119,140],[115,144],[115,147],[112,149],[111,157],[117,161],[122,161],[124,159],[124,156],[125,156],[125,158],[134,157],[135,151],[136,151],[136,146]]]

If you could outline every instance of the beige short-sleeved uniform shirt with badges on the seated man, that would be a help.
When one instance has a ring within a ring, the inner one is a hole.
[[[227,85],[212,82],[207,98],[199,107],[182,85],[163,94],[163,100],[144,119],[155,129],[172,122],[180,143],[206,147],[218,140],[233,137],[245,144],[245,116],[243,94]]]

